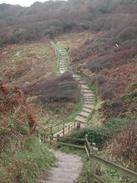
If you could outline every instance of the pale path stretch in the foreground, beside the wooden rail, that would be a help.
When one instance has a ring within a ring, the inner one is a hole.
[[[82,161],[79,156],[53,152],[57,161],[47,176],[40,177],[37,183],[74,183],[82,170]]]

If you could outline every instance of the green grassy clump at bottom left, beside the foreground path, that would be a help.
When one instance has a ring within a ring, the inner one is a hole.
[[[55,158],[35,136],[28,138],[14,154],[9,150],[0,154],[2,183],[35,183],[37,177],[54,164]]]

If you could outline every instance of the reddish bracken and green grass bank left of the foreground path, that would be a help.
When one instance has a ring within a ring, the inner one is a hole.
[[[37,110],[17,87],[0,86],[0,179],[3,183],[35,182],[54,162],[35,135]]]

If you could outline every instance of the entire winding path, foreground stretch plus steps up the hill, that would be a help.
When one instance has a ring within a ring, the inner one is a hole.
[[[58,56],[58,69],[59,74],[63,74],[67,71],[70,71],[69,68],[69,56],[66,54],[66,50],[57,44],[54,44],[56,50],[56,55]],[[72,72],[73,74],[73,72]],[[83,101],[81,112],[77,115],[74,122],[66,124],[66,129],[68,126],[73,130],[76,128],[77,124],[80,124],[81,127],[87,125],[87,121],[92,113],[95,103],[94,94],[91,92],[87,83],[82,79],[78,74],[73,74],[73,77],[78,81],[81,88],[81,98]],[[54,134],[56,136],[63,136],[62,130]],[[82,161],[79,156],[65,154],[59,151],[53,151],[57,164],[56,167],[53,167],[46,176],[40,177],[38,183],[75,183],[82,170]]]

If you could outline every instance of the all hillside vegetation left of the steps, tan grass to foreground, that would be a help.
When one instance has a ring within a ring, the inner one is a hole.
[[[79,88],[69,73],[56,77],[47,40],[8,45],[0,58],[0,180],[34,183],[55,161],[35,129],[41,133],[41,127],[73,120]],[[65,87],[71,86],[68,92]]]

